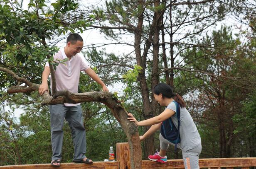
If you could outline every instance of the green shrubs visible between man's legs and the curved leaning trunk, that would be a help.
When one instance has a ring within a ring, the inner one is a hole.
[[[87,156],[91,159],[96,161],[108,159],[110,146],[115,150],[116,142],[127,142],[121,126],[108,109],[91,118],[88,123],[93,127],[93,130],[86,131]]]

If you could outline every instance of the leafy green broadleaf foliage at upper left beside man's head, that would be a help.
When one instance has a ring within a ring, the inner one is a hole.
[[[16,5],[12,5],[12,2]],[[44,0],[30,0],[28,9],[24,10],[16,0],[3,0],[0,4],[2,65],[13,72],[22,70],[22,75],[26,75],[28,80],[39,83],[38,77],[42,74],[47,56],[53,56],[58,51],[57,46],[48,46],[44,41],[70,31],[83,31],[92,23],[93,19],[64,23],[62,18],[77,7],[78,3],[74,0],[59,0],[52,6]],[[56,67],[58,63],[53,64]],[[15,85],[12,80],[7,82],[8,76],[3,72],[0,72],[0,76],[0,87]]]

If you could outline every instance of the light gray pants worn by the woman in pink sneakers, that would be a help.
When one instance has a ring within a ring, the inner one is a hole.
[[[170,145],[175,146],[172,142],[169,142],[162,135],[159,135],[160,139],[160,149],[167,150]],[[177,144],[177,148],[180,148],[180,144]],[[202,150],[202,145],[198,145],[197,147],[192,148],[191,150],[182,150],[182,158],[184,161],[185,169],[199,169],[199,155]]]

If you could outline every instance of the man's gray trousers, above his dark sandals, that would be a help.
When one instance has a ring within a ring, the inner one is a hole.
[[[61,159],[64,118],[69,123],[74,145],[74,159],[84,159],[86,153],[86,132],[81,106],[49,106],[51,113],[52,160]]]

